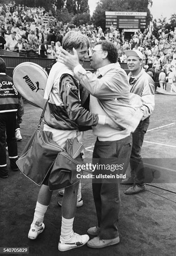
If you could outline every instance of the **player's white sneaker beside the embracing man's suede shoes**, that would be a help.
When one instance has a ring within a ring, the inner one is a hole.
[[[77,233],[73,233],[73,236],[70,238],[68,242],[59,241],[58,250],[59,251],[68,251],[74,248],[78,248],[83,246],[89,241],[88,235],[79,235]]]

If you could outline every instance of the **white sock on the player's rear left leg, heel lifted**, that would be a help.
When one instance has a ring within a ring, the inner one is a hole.
[[[45,212],[47,211],[49,205],[41,205],[39,202],[36,203],[34,219],[32,224],[36,224],[38,226],[42,225]]]

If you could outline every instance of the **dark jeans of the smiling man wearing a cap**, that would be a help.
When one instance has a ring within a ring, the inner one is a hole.
[[[132,150],[130,158],[131,177],[134,178],[134,184],[144,185],[144,164],[141,159],[141,149],[144,141],[144,135],[149,127],[149,118],[140,121],[138,127],[132,133]]]

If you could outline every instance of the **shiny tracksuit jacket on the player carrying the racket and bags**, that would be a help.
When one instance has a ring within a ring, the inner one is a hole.
[[[56,62],[50,71],[44,98],[48,98],[50,90],[51,93],[44,115],[44,123],[52,128],[76,130],[79,125],[94,126],[98,123],[98,115],[90,113],[82,106],[79,83],[73,75],[70,69],[59,62]],[[82,95],[84,93],[85,91]]]

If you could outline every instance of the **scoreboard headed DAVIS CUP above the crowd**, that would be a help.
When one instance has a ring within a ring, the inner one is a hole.
[[[105,12],[106,28],[113,25],[124,32],[135,32],[146,28],[145,12]]]

